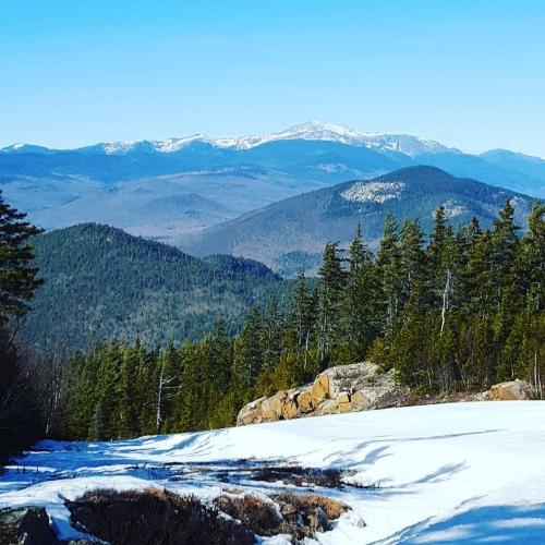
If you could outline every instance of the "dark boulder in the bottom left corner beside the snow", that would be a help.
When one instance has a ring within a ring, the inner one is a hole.
[[[11,545],[57,545],[43,507],[0,510],[0,543]]]

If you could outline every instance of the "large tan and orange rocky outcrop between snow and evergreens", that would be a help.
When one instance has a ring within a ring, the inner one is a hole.
[[[240,411],[237,425],[395,407],[404,404],[408,392],[392,371],[385,373],[374,363],[339,365],[310,385],[252,401]]]

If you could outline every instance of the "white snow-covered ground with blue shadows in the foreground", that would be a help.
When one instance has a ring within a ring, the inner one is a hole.
[[[352,507],[319,543],[545,543],[542,401],[386,409],[113,443],[43,441],[0,477],[0,506],[46,506],[68,537],[74,531],[63,498],[148,486],[210,498],[227,485],[196,467],[267,460],[354,470],[354,482],[377,485],[319,489]],[[257,494],[278,486],[243,483]]]

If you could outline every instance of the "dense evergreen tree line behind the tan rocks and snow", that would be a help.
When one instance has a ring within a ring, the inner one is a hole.
[[[426,238],[387,216],[376,255],[361,229],[326,245],[318,278],[300,275],[283,313],[253,307],[238,336],[219,322],[165,350],[95,346],[60,370],[52,433],[109,439],[231,425],[247,401],[370,360],[423,392],[480,390],[523,378],[543,398],[545,205],[525,232],[507,202],[491,229],[455,230],[443,207]]]

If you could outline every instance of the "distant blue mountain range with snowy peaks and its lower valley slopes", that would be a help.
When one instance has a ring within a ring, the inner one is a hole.
[[[509,150],[465,154],[404,134],[307,122],[275,134],[0,150],[0,189],[50,230],[99,221],[175,242],[287,197],[404,167],[435,166],[545,196],[545,160]]]

